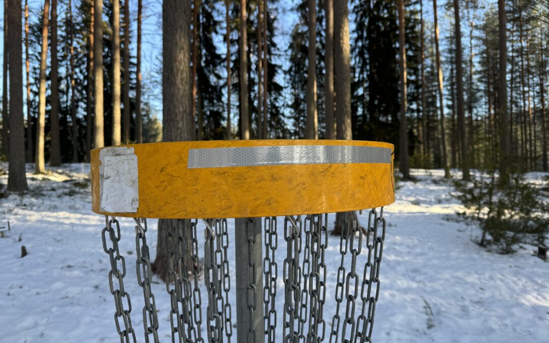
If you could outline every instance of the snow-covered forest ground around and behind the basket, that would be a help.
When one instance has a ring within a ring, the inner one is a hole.
[[[30,192],[0,199],[0,220],[9,220],[12,227],[0,239],[0,342],[119,341],[107,282],[109,260],[100,237],[104,218],[90,210],[89,165],[65,165],[49,176],[32,175],[32,166],[27,168]],[[548,342],[549,264],[533,256],[533,246],[513,255],[479,248],[472,242],[478,229],[452,220],[463,208],[450,196],[451,184],[442,180],[442,172],[415,170],[413,175],[418,182],[400,183],[396,203],[385,209],[389,225],[373,341]],[[7,175],[0,176],[0,183],[3,194]],[[365,212],[361,221],[366,222],[366,216]],[[282,222],[281,218],[279,273],[285,247]],[[135,249],[135,232],[131,220],[122,218],[121,224],[132,323],[138,341],[144,341],[142,290],[136,281],[135,253],[128,254]],[[149,221],[149,229],[154,256],[156,221]],[[229,221],[230,240],[233,234]],[[338,244],[337,238],[329,237],[328,289],[334,288]],[[24,258],[21,245],[29,253]],[[231,245],[228,255],[234,254]],[[358,262],[363,265],[362,259]],[[231,278],[235,323],[234,261]],[[169,296],[160,279],[153,281],[160,340],[171,341]],[[277,341],[282,341],[283,286],[279,275]],[[205,316],[204,287],[202,295]],[[327,336],[334,304],[329,291],[324,307]]]

